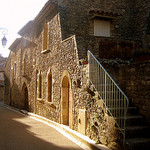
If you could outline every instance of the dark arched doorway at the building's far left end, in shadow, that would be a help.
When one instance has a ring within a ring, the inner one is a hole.
[[[22,95],[23,95],[23,109],[29,111],[28,88],[25,83],[22,88]]]

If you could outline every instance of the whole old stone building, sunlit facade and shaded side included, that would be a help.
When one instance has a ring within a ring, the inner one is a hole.
[[[10,46],[5,103],[117,149],[115,117],[89,84],[87,50],[123,89],[131,108],[150,120],[149,26],[148,0],[48,0]],[[139,61],[135,56],[143,51],[146,60]]]

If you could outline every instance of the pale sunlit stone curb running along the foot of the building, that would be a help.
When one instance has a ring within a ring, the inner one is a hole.
[[[93,140],[89,139],[87,136],[84,136],[84,135],[78,133],[77,131],[70,129],[69,127],[67,127],[65,125],[56,123],[47,118],[27,112],[25,110],[19,110],[17,108],[14,108],[14,107],[11,107],[11,106],[8,106],[5,104],[3,104],[3,106],[55,128],[58,132],[60,132],[61,134],[63,134],[67,138],[69,138],[72,142],[79,145],[82,149],[85,149],[85,150],[109,150],[106,146],[101,145],[101,144],[95,144],[95,142]]]

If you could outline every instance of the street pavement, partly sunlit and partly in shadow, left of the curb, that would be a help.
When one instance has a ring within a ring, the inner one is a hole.
[[[0,150],[81,150],[54,128],[0,105]]]

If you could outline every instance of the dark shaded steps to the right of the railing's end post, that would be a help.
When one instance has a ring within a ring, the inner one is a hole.
[[[126,150],[150,149],[150,126],[138,109],[129,106],[126,120]]]

